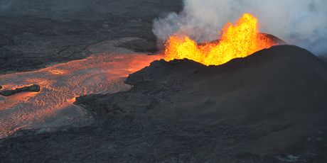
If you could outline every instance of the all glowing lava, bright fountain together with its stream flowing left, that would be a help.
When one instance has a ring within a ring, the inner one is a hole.
[[[172,35],[166,42],[164,59],[194,60],[205,65],[224,64],[237,57],[276,45],[259,33],[257,18],[245,13],[235,25],[227,23],[215,42],[198,44],[187,36]],[[163,56],[140,54],[92,55],[34,72],[0,75],[4,89],[31,84],[41,86],[38,93],[0,96],[0,137],[21,128],[53,128],[63,124],[89,123],[92,117],[75,106],[77,96],[114,93],[129,89],[124,84],[128,74],[149,65]]]

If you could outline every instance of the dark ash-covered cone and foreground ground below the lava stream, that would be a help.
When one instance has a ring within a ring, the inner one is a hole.
[[[0,142],[4,162],[326,162],[327,67],[276,46],[221,66],[156,61],[83,96],[97,122]]]

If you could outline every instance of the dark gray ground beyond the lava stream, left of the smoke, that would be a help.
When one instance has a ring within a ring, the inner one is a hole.
[[[92,44],[124,37],[139,51],[154,51],[152,21],[179,11],[181,1],[1,0],[0,74],[39,69],[90,55]]]

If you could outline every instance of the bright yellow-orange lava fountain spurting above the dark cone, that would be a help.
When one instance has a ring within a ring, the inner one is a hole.
[[[276,44],[259,33],[257,18],[245,13],[235,25],[227,23],[215,43],[198,45],[187,36],[171,36],[166,43],[165,60],[187,58],[205,65],[219,65]]]

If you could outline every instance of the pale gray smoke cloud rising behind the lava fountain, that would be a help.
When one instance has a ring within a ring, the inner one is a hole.
[[[263,33],[304,47],[316,55],[327,53],[326,0],[184,0],[181,13],[154,20],[154,34],[166,40],[173,33],[201,41],[219,38],[218,31],[242,13],[259,19]]]

